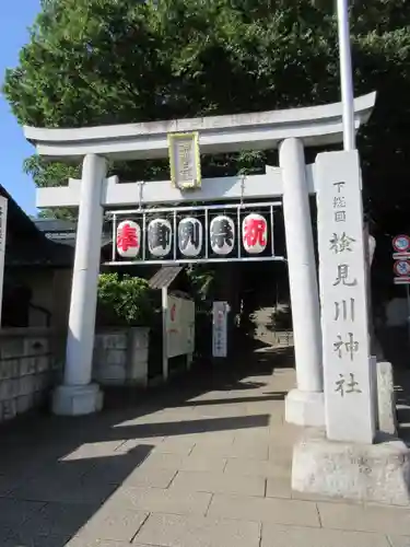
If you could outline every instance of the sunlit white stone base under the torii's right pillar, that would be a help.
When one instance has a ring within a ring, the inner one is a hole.
[[[285,398],[285,420],[296,426],[321,428],[325,426],[325,399],[323,392],[292,389]]]

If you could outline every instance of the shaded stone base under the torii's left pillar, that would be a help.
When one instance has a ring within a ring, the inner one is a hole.
[[[52,412],[58,416],[84,416],[103,408],[103,392],[97,384],[60,385],[52,394]]]

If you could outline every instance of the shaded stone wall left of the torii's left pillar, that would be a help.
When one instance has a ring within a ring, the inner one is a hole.
[[[48,328],[0,330],[0,421],[46,400],[59,374],[62,341]]]

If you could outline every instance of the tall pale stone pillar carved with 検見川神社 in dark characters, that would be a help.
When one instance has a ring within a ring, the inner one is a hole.
[[[319,154],[316,173],[327,437],[372,443],[375,416],[358,151]]]

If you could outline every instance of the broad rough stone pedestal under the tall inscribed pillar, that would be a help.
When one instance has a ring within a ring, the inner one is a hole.
[[[409,505],[409,487],[410,451],[397,438],[353,444],[311,429],[293,449],[292,489],[300,492]]]

